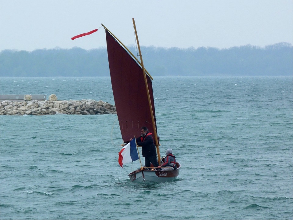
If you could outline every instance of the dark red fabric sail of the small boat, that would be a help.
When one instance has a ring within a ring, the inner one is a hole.
[[[143,70],[131,54],[106,30],[107,50],[114,101],[124,142],[139,137],[145,126],[154,134]],[[150,77],[147,84],[155,119],[154,95]]]

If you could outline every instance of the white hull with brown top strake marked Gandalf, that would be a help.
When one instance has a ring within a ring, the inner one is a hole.
[[[180,164],[177,163],[178,168],[176,170],[168,170],[168,171],[147,171],[137,169],[136,171],[128,174],[131,182],[139,183],[139,182],[170,182],[177,178],[179,175]]]

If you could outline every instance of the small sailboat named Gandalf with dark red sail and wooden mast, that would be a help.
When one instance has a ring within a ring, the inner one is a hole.
[[[129,142],[130,138],[140,135],[141,127],[147,127],[148,131],[153,134],[158,163],[161,164],[164,163],[165,158],[160,156],[153,78],[144,68],[135,21],[134,19],[132,21],[140,61],[102,24],[106,31],[110,77],[119,126],[125,144]],[[168,171],[157,170],[152,164],[151,167],[143,167],[141,161],[140,164],[140,168],[128,174],[131,182],[169,182],[175,180],[179,175],[180,164],[178,162],[177,169]]]

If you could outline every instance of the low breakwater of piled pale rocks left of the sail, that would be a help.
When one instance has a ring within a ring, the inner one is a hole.
[[[116,108],[104,101],[1,101],[0,115],[101,115],[116,114]]]

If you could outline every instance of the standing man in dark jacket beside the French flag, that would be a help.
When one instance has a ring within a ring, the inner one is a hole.
[[[132,138],[130,138],[130,141],[132,141]],[[148,132],[147,127],[141,128],[141,136],[136,138],[136,143],[138,146],[142,146],[141,152],[144,157],[144,165],[150,167],[150,163],[152,163],[154,167],[159,166],[154,139],[152,133]]]

